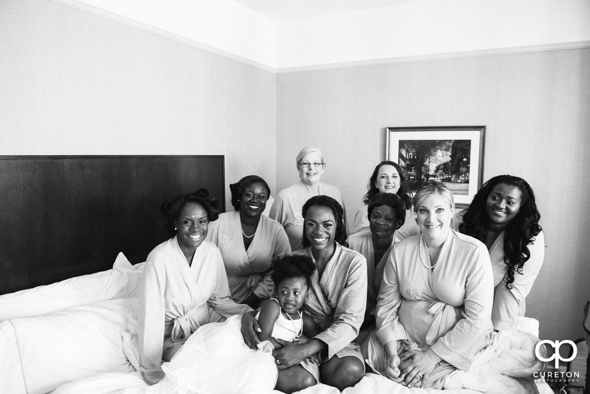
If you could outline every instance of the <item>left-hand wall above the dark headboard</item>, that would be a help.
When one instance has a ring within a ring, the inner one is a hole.
[[[225,155],[274,192],[276,74],[52,1],[0,2],[0,54],[0,155]]]

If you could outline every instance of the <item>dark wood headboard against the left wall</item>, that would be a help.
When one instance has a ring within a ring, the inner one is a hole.
[[[145,261],[198,188],[225,211],[224,156],[0,156],[0,294]]]

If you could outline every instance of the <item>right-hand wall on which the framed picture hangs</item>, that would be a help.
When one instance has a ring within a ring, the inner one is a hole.
[[[385,127],[485,125],[484,180],[510,173],[535,190],[545,263],[527,297],[543,339],[583,336],[590,300],[590,50],[559,50],[277,75],[277,189],[299,149],[326,156],[349,223],[385,159]]]

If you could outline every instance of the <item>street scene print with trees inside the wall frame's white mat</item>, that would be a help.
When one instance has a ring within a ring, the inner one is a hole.
[[[443,182],[455,195],[468,195],[471,140],[400,140],[398,164],[409,190],[429,180]]]

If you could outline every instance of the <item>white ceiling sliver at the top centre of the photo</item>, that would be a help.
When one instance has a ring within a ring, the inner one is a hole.
[[[341,12],[399,5],[419,0],[235,0],[273,21],[289,21]]]

